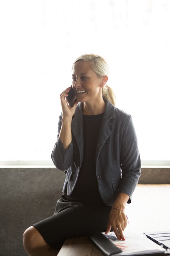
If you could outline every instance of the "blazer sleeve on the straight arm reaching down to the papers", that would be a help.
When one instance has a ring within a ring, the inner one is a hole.
[[[141,175],[141,159],[139,155],[137,136],[129,115],[123,129],[121,151],[121,182],[119,184],[119,193],[126,193],[130,196],[128,203],[131,202],[132,193],[137,186],[137,182]]]

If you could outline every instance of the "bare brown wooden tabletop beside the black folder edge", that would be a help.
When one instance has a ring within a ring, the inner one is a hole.
[[[104,256],[87,237],[67,239],[57,256]]]

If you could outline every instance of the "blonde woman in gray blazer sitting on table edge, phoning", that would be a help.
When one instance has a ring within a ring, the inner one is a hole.
[[[55,256],[67,237],[112,228],[125,240],[126,203],[131,202],[141,163],[132,118],[115,108],[106,85],[108,66],[95,54],[82,55],[72,67],[77,101],[71,108],[60,94],[62,115],[52,159],[66,170],[55,213],[24,232],[28,255]]]

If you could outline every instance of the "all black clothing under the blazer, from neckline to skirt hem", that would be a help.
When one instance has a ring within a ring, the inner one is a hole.
[[[60,249],[68,237],[106,231],[111,207],[100,197],[95,167],[102,117],[83,115],[84,159],[75,189],[70,196],[61,195],[53,216],[33,225],[54,249]]]

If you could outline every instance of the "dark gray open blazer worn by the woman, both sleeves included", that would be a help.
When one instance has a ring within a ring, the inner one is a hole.
[[[72,142],[68,149],[64,149],[59,138],[61,125],[62,114],[51,157],[57,169],[66,170],[63,192],[71,195],[83,161],[82,103],[77,105],[72,119]],[[130,196],[130,203],[140,174],[141,161],[132,117],[106,101],[96,150],[96,178],[102,200],[112,206],[117,193],[125,193]]]

